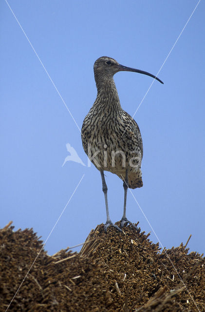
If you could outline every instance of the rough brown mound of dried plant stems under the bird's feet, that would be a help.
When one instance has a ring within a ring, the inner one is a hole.
[[[183,244],[160,253],[149,234],[98,225],[79,254],[49,256],[13,228],[0,230],[0,312],[205,311],[205,258]]]

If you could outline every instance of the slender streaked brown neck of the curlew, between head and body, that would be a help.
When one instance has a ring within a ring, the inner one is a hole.
[[[120,100],[118,97],[117,89],[113,77],[109,76],[95,76],[97,87],[97,98],[94,105],[100,106],[106,110],[121,110]]]

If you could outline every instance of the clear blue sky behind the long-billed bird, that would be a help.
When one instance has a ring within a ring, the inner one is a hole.
[[[93,63],[110,56],[156,75],[198,1],[8,0],[81,129],[96,97]],[[132,190],[163,246],[203,253],[205,237],[205,2],[201,1],[159,78],[114,76],[121,106],[144,144],[144,186]],[[83,242],[106,221],[101,177],[87,166],[80,131],[7,3],[0,2],[0,227],[33,227],[45,249]],[[86,164],[68,161],[66,143]],[[122,181],[106,173],[110,216],[123,213]],[[152,231],[128,191],[127,216]],[[157,242],[153,231],[150,239]]]

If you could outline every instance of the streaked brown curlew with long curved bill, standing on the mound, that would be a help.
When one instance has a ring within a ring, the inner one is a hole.
[[[143,143],[138,124],[121,107],[113,76],[117,72],[128,71],[150,76],[162,84],[163,82],[148,72],[121,65],[106,56],[96,59],[93,70],[97,97],[83,121],[81,139],[85,153],[100,171],[107,215],[104,230],[107,232],[108,227],[112,226],[122,232],[123,226],[128,224],[137,229],[126,217],[126,203],[128,188],[143,186]],[[104,171],[109,171],[123,180],[124,208],[120,227],[110,219]]]

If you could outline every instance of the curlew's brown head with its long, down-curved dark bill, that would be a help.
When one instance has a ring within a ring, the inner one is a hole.
[[[152,74],[149,74],[148,72],[144,72],[140,69],[135,69],[135,68],[121,65],[115,59],[112,59],[109,57],[101,57],[99,59],[96,59],[96,61],[94,62],[94,76],[95,77],[100,77],[104,75],[113,77],[114,74],[116,74],[117,72],[121,72],[121,71],[144,74],[152,78],[155,78],[159,82],[163,83],[162,80],[160,80],[159,78],[155,77]]]

